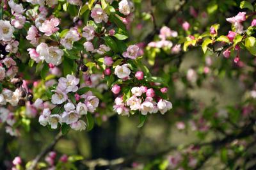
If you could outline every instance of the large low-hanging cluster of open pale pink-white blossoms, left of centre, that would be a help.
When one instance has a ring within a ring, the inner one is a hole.
[[[79,79],[74,75],[67,75],[67,78],[61,77],[58,80],[58,86],[52,90],[54,94],[51,97],[51,103],[64,107],[63,112],[52,114],[50,108],[44,108],[39,117],[39,123],[43,126],[51,125],[51,128],[58,128],[58,123],[66,123],[74,130],[84,130],[86,123],[81,119],[87,112],[95,112],[99,105],[99,98],[95,97],[92,91],[83,95],[76,92],[79,89]],[[75,103],[68,95],[72,93],[75,97]]]

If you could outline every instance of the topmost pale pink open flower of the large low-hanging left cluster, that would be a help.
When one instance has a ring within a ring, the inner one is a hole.
[[[79,79],[77,79],[74,75],[67,75],[67,79],[64,77],[61,77],[59,79],[58,83],[58,89],[61,89],[65,92],[76,92],[78,87],[77,84],[79,84]]]

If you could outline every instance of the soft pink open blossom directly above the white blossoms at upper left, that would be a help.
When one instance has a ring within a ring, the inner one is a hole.
[[[60,20],[57,18],[52,18],[51,20],[45,20],[39,30],[45,33],[46,36],[51,36],[53,33],[59,30],[57,27],[60,24]]]

